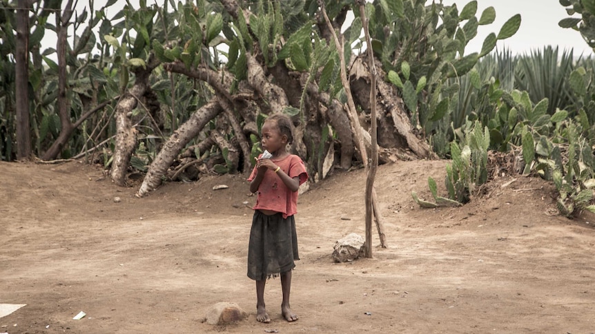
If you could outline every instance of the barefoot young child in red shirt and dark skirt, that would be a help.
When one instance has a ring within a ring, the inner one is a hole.
[[[289,306],[291,270],[298,256],[298,237],[293,215],[298,212],[298,188],[308,179],[299,156],[289,154],[293,141],[291,120],[284,114],[266,118],[262,125],[262,149],[273,156],[259,156],[248,178],[250,191],[257,193],[248,243],[248,277],[256,281],[256,320],[271,322],[264,306],[266,279],[281,275],[281,313],[294,322],[298,315]]]

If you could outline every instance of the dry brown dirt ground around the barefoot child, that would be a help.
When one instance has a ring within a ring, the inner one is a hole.
[[[491,182],[464,207],[421,209],[411,191],[429,198],[428,176],[444,191],[446,163],[379,167],[388,248],[374,228],[371,259],[331,256],[336,240],[364,236],[363,170],[300,196],[300,320],[282,320],[273,279],[270,324],[256,322],[246,277],[255,198],[245,176],[135,198],[95,166],[0,163],[0,303],[27,304],[0,318],[0,333],[595,333],[595,217],[558,216],[552,186],[523,176]],[[202,322],[217,302],[248,316]]]

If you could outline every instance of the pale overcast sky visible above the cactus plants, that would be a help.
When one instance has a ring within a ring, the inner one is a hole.
[[[155,0],[147,0],[147,4]],[[439,1],[439,0],[436,0]],[[459,10],[469,3],[470,0],[443,0],[446,5],[456,3]],[[558,0],[477,0],[478,12],[476,17],[481,17],[485,8],[492,6],[496,10],[496,21],[491,25],[480,25],[478,35],[469,42],[466,52],[480,52],[485,37],[494,32],[498,34],[502,25],[515,14],[521,15],[521,23],[518,32],[503,41],[498,41],[496,48],[506,48],[513,54],[530,54],[531,50],[543,50],[546,45],[558,46],[560,52],[563,50],[574,50],[574,55],[583,53],[585,56],[594,54],[589,45],[583,41],[579,32],[572,29],[564,29],[558,26],[561,19],[568,17],[566,10]],[[162,1],[159,1],[161,3]],[[95,8],[100,8],[106,0],[95,0]],[[133,6],[137,7],[138,0],[130,0]],[[427,3],[431,3],[428,0]],[[119,10],[126,4],[126,0],[117,0],[113,8]],[[87,6],[88,1],[78,1],[78,8]],[[117,10],[108,12],[113,15]],[[55,47],[55,46],[54,46]]]

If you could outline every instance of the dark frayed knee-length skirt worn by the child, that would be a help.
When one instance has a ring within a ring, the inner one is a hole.
[[[248,277],[266,280],[295,268],[298,255],[298,235],[295,219],[283,219],[281,213],[266,216],[255,210],[248,242]]]

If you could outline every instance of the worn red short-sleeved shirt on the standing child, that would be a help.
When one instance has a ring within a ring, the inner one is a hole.
[[[282,160],[273,160],[273,162],[281,167],[281,170],[289,177],[299,176],[300,185],[308,180],[306,166],[304,166],[304,162],[299,156],[289,154]],[[256,174],[257,168],[254,167],[248,181],[254,180]],[[293,216],[298,213],[298,191],[289,190],[275,171],[267,169],[262,182],[258,186],[256,205],[254,205],[253,209],[277,211],[282,213],[283,218]]]

